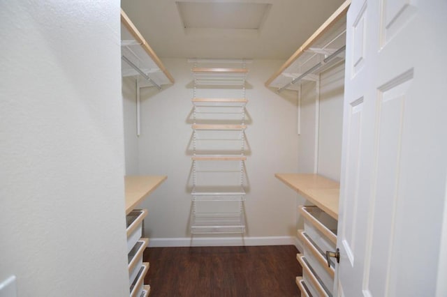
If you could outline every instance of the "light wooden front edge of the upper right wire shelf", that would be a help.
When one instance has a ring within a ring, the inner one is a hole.
[[[298,59],[305,50],[309,49],[310,45],[314,42],[314,40],[320,38],[323,33],[328,31],[330,26],[332,24],[335,24],[343,15],[346,15],[346,12],[348,11],[349,6],[351,5],[351,0],[346,0],[342,5],[335,10],[335,13],[332,13],[332,15],[326,20],[313,34],[310,36],[305,43],[303,43],[298,50],[284,63],[279,70],[277,70],[276,73],[274,73],[268,80],[265,82],[265,86],[269,87],[270,84],[281,75],[281,73],[284,72],[288,68],[288,66],[291,66],[291,63],[295,62],[296,59]]]

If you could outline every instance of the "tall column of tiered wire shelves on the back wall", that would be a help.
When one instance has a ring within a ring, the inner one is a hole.
[[[248,102],[245,79],[248,70],[193,67],[191,73],[194,79],[191,234],[244,234],[246,191],[243,183],[244,161],[247,160],[244,130]],[[208,90],[225,86],[240,88],[242,98],[197,97],[201,86]],[[214,178],[210,178],[213,174]]]

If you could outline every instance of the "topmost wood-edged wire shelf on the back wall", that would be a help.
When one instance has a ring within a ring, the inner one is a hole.
[[[246,68],[192,68],[194,83],[208,86],[243,86]]]

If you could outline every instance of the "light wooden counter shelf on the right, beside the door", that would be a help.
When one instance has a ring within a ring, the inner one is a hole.
[[[318,174],[274,174],[280,181],[338,220],[340,185]]]

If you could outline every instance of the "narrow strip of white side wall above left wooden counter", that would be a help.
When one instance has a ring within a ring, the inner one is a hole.
[[[126,175],[138,175],[138,137],[136,116],[136,79],[123,77],[124,153]]]

